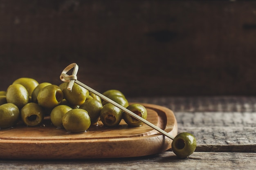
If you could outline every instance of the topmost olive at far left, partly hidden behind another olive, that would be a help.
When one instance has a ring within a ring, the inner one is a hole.
[[[28,93],[29,96],[32,95],[32,92],[34,91],[34,89],[36,88],[36,86],[38,86],[38,82],[35,79],[32,78],[27,78],[27,77],[21,77],[19,79],[16,79],[13,84],[21,84],[23,85]]]

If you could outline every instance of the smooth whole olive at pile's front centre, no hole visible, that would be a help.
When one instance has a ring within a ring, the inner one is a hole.
[[[62,124],[67,132],[85,132],[90,127],[91,120],[86,110],[74,108],[63,116]]]

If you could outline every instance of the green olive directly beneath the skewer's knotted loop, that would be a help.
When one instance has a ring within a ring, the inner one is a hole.
[[[59,85],[59,87],[63,91],[64,98],[73,106],[80,106],[89,96],[89,91],[76,83],[72,87],[72,91],[68,90],[67,86],[68,82],[64,82]]]

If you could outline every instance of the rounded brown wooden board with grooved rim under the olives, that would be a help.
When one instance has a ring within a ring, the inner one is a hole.
[[[173,137],[177,121],[172,110],[154,104],[142,104],[148,111],[147,120]],[[101,122],[87,132],[69,133],[52,126],[49,117],[41,126],[23,124],[0,130],[0,159],[92,159],[139,157],[161,153],[171,148],[172,140],[146,124],[107,128]]]

